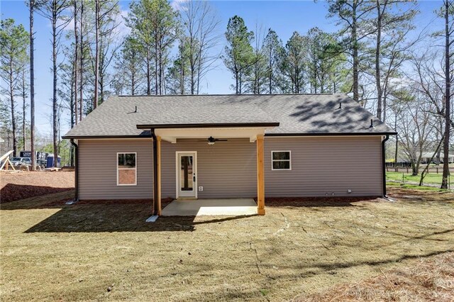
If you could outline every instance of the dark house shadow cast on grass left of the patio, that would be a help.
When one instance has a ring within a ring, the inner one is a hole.
[[[63,206],[52,216],[26,230],[25,233],[101,233],[101,232],[169,232],[194,231],[196,225],[221,223],[250,216],[214,218],[206,216],[162,216],[155,223],[146,223],[151,203],[89,203]]]

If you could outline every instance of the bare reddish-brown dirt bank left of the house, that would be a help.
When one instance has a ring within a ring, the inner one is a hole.
[[[74,189],[74,172],[0,173],[0,202]]]

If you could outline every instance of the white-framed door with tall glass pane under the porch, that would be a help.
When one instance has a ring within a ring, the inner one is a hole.
[[[196,164],[196,152],[177,152],[177,198],[197,197]]]

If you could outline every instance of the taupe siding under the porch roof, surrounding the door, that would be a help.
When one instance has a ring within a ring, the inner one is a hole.
[[[162,198],[176,195],[177,151],[197,152],[197,186],[204,187],[204,191],[198,192],[198,198],[257,196],[255,143],[246,138],[232,138],[209,146],[201,140],[162,142]]]

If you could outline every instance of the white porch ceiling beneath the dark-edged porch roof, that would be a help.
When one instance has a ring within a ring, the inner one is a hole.
[[[250,142],[257,140],[257,135],[265,135],[265,130],[274,126],[265,127],[236,127],[236,128],[159,128],[155,134],[162,140],[176,143],[179,138],[249,138]]]

